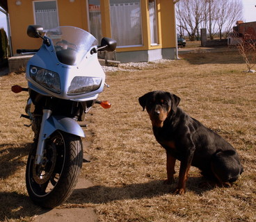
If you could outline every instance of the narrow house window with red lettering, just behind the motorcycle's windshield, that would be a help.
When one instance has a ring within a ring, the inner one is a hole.
[[[90,33],[100,42],[102,40],[102,15],[100,0],[88,0]]]

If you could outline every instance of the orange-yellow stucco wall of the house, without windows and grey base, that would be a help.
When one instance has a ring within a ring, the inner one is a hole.
[[[37,0],[43,1],[43,0]],[[109,0],[100,0],[102,13],[102,35],[111,37],[111,18],[109,15]],[[61,26],[77,26],[88,31],[88,11],[86,0],[74,2],[57,0],[59,24]],[[117,51],[140,51],[148,49],[175,47],[175,20],[173,17],[173,0],[157,0],[157,22],[159,44],[150,45],[150,20],[148,0],[141,0],[141,16],[143,25],[143,46],[124,47]],[[16,6],[15,0],[8,0],[10,15],[10,31],[13,44],[13,53],[17,49],[38,49],[41,40],[26,35],[26,28],[34,24],[33,1],[22,0],[21,6]]]

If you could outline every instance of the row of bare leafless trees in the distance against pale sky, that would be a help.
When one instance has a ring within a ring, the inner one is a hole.
[[[226,38],[243,17],[241,0],[180,0],[175,4],[177,33],[200,39],[200,29],[207,28],[211,40]]]

